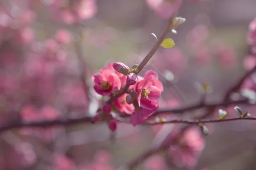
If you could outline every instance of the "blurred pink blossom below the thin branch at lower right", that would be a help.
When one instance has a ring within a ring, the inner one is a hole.
[[[200,131],[195,128],[189,128],[178,141],[178,145],[171,146],[169,154],[174,164],[193,169],[204,149],[205,141]]]

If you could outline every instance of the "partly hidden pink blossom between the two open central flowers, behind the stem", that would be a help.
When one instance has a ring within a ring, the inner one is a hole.
[[[127,96],[127,94],[123,94],[121,97],[116,99],[114,101],[114,105],[116,106],[116,108],[119,109],[119,111],[126,113],[126,114],[131,114],[134,111],[134,105],[132,105],[132,104],[129,105],[126,102],[126,96]]]

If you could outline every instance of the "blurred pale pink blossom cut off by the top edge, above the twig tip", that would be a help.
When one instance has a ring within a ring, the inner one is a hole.
[[[148,7],[163,19],[172,17],[180,8],[182,0],[146,0]]]

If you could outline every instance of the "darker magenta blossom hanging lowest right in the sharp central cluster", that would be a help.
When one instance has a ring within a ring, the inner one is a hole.
[[[135,112],[130,117],[131,124],[136,126],[138,124],[145,122],[145,120],[148,119],[148,116],[151,116],[153,113],[157,111],[158,107],[158,104],[156,104],[154,108],[150,110],[142,107],[136,108]]]

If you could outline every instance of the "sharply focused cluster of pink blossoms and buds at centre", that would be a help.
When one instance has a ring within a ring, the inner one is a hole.
[[[163,84],[153,70],[146,71],[144,78],[137,76],[137,66],[134,65],[130,69],[121,62],[115,62],[113,65],[108,64],[99,71],[99,74],[92,76],[95,84],[93,88],[102,96],[113,97],[122,93],[125,85],[129,85],[128,91],[113,103],[103,105],[100,113],[95,116],[95,121],[105,117],[108,119],[110,129],[115,130],[116,121],[113,121],[113,116],[110,114],[112,110],[131,115],[130,121],[134,126],[143,123],[148,116],[157,111]]]

